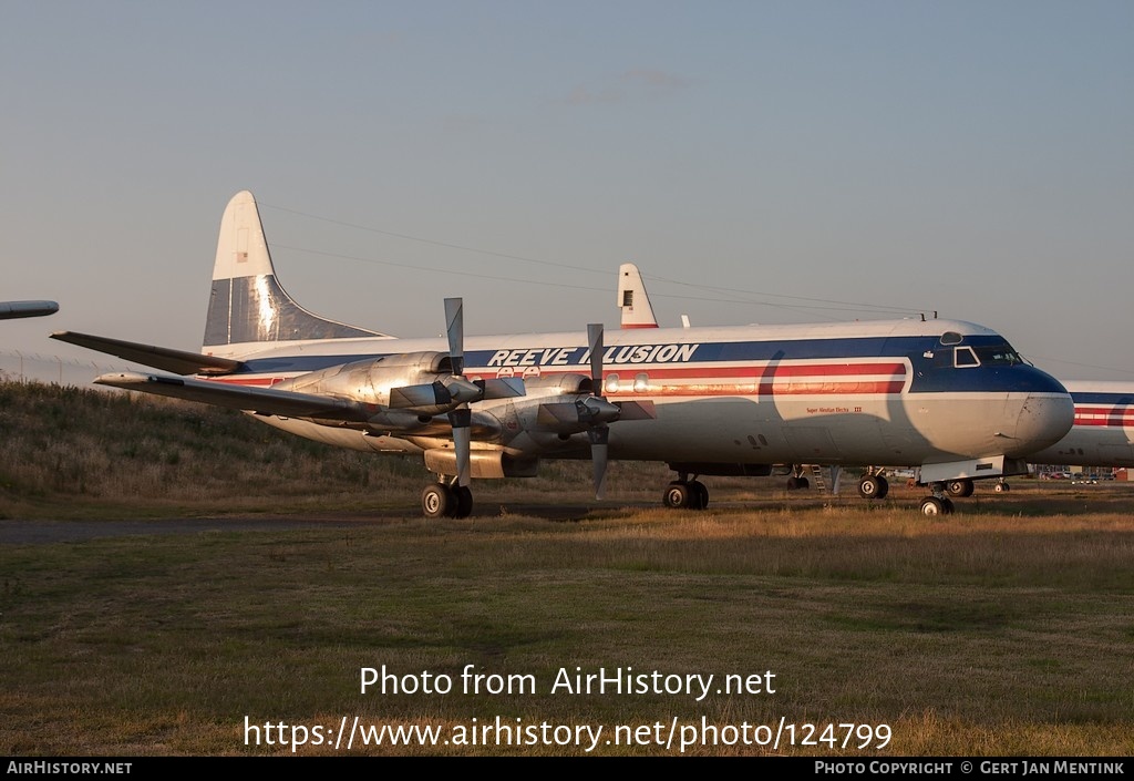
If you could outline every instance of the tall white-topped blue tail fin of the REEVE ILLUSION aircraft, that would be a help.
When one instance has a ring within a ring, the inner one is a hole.
[[[238,356],[266,342],[386,337],[312,314],[276,279],[256,200],[232,196],[220,220],[203,352]]]

